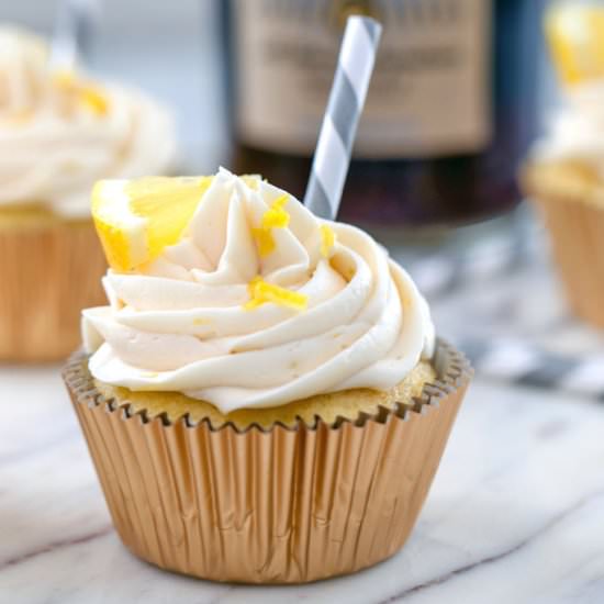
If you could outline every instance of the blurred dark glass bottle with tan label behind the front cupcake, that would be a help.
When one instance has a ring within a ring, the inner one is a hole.
[[[303,197],[345,19],[384,25],[339,219],[458,225],[519,202],[541,1],[231,0],[233,163]]]

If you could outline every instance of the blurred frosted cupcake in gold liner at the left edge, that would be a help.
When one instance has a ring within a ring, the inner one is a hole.
[[[0,27],[0,360],[63,358],[107,270],[90,219],[99,178],[167,170],[171,118],[155,101],[53,70],[47,45]]]

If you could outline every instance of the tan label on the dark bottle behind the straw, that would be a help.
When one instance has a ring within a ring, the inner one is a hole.
[[[355,156],[482,149],[492,134],[492,0],[235,0],[244,144],[312,154],[346,16],[384,25]]]

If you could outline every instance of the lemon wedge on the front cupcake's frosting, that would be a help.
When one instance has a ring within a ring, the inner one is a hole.
[[[178,243],[212,177],[100,180],[92,217],[109,265],[135,270]]]

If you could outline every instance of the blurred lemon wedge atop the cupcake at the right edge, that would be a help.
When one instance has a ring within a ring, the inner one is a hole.
[[[547,12],[546,35],[563,83],[604,77],[604,7],[566,2]]]

